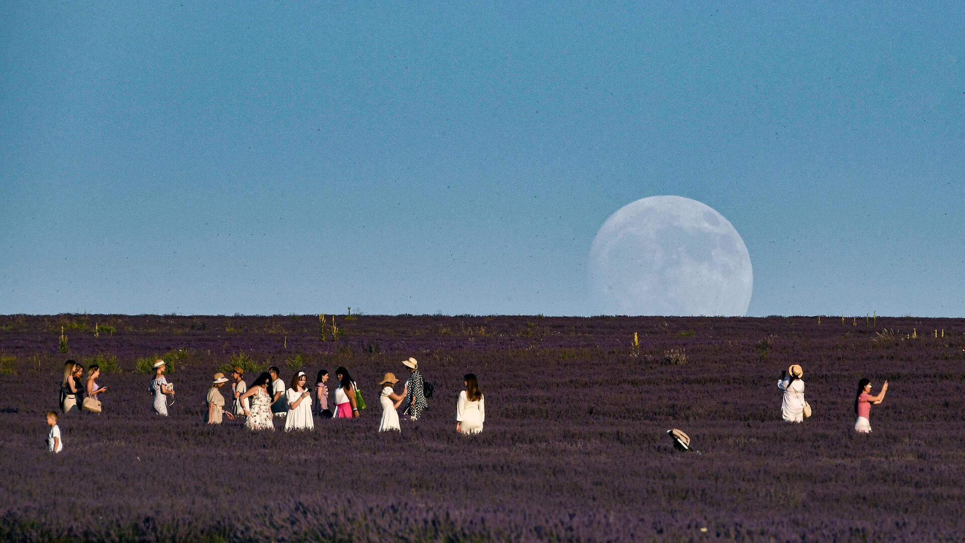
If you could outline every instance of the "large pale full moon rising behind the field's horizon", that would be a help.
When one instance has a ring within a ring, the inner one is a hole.
[[[593,299],[610,315],[743,316],[754,272],[724,215],[682,196],[650,196],[610,215],[590,247]]]

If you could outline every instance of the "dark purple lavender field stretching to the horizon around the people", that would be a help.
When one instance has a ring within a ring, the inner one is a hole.
[[[0,317],[0,540],[965,533],[965,320],[336,319],[338,340],[321,341],[314,315]],[[152,377],[136,371],[153,357],[175,366],[168,418],[152,414]],[[406,357],[435,385],[429,411],[378,435],[376,383],[404,375]],[[98,379],[103,414],[61,417],[65,450],[54,455],[43,413],[57,408],[67,358],[116,359],[119,371]],[[296,369],[314,383],[318,369],[344,365],[369,408],[355,421],[317,418],[312,433],[205,425],[211,375],[239,361],[278,365],[286,383]],[[814,412],[800,425],[781,420],[776,386],[791,363],[804,367]],[[486,398],[472,438],[455,434],[467,372]],[[875,391],[891,384],[867,436],[853,431],[861,377]],[[674,427],[702,453],[675,451]]]

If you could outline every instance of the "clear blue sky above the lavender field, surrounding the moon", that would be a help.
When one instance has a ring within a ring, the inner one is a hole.
[[[965,5],[523,4],[5,3],[0,313],[592,314],[676,194],[750,315],[965,315]]]

